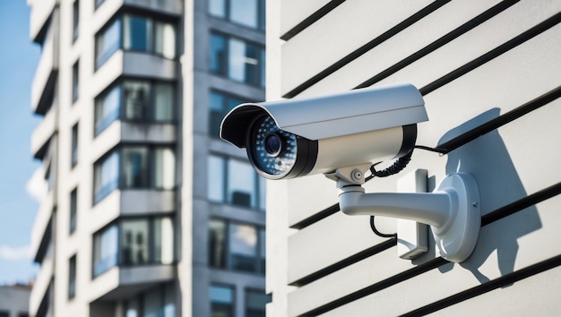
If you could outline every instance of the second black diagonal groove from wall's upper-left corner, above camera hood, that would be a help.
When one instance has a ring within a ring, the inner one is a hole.
[[[300,92],[310,88],[316,82],[321,81],[322,79],[324,79],[325,77],[327,77],[328,75],[330,75],[332,73],[335,73],[336,71],[341,69],[344,65],[349,64],[353,60],[357,59],[359,56],[364,55],[365,53],[367,53],[367,51],[369,51],[370,49],[380,45],[385,40],[391,39],[393,36],[395,36],[396,34],[401,32],[401,30],[405,30],[405,29],[409,28],[415,22],[417,22],[417,21],[421,20],[422,18],[426,17],[428,14],[435,12],[441,6],[449,3],[450,1],[451,0],[436,0],[435,2],[433,2],[431,4],[428,4],[426,7],[419,10],[419,12],[414,13],[409,18],[401,21],[400,23],[395,25],[392,29],[386,30],[384,33],[382,33],[381,35],[379,35],[375,39],[372,39],[371,41],[369,41],[367,44],[363,45],[362,47],[358,47],[356,50],[351,52],[349,55],[344,56],[343,58],[341,58],[341,60],[337,61],[335,64],[332,64],[331,66],[324,69],[322,72],[315,74],[314,76],[312,76],[307,81],[304,81],[303,83],[299,84],[298,87],[294,88],[293,90],[290,90],[289,92],[287,92],[282,97],[284,97],[284,98],[295,97]]]

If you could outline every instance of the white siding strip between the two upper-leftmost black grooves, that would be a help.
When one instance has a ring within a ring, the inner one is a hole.
[[[302,1],[298,2],[298,4]],[[346,1],[282,47],[282,93],[296,88],[431,1]]]

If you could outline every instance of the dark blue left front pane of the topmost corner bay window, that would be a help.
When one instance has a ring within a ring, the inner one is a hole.
[[[142,52],[150,51],[151,20],[127,14],[124,22],[123,48]]]

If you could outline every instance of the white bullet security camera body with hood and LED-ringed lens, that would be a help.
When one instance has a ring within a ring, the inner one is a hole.
[[[294,178],[401,158],[415,146],[417,123],[427,120],[413,85],[384,85],[242,104],[224,117],[220,138],[246,148],[261,176]]]

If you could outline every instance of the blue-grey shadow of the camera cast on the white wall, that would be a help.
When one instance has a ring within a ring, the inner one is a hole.
[[[486,124],[499,115],[500,109],[492,108],[445,133],[438,144]],[[450,151],[447,157],[446,174],[467,172],[477,180],[481,216],[528,195],[497,129]],[[512,273],[518,255],[517,239],[541,226],[538,210],[531,206],[481,227],[474,252],[460,265],[470,270],[481,284]],[[497,262],[496,265],[493,261]]]

